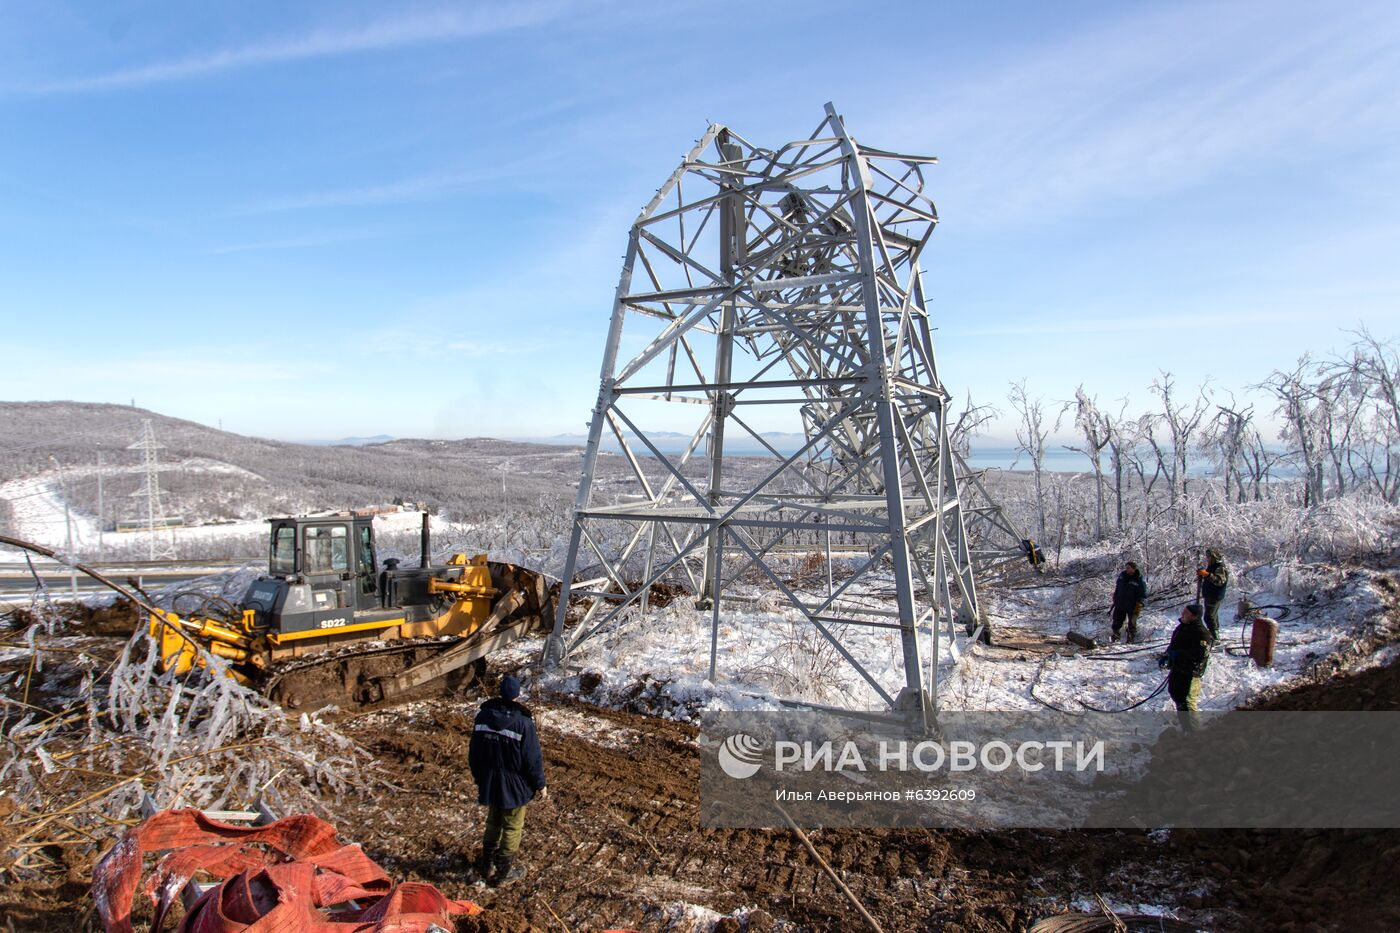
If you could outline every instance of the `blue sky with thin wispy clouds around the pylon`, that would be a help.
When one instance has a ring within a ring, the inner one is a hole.
[[[1147,408],[1400,333],[1394,3],[0,7],[0,398],[580,433],[707,120],[937,154],[955,395]],[[1005,424],[1000,434],[1008,434]]]

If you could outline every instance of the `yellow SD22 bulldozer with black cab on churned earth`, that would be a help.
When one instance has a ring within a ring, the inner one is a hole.
[[[242,600],[183,594],[150,619],[162,670],[204,664],[203,649],[284,706],[371,705],[455,686],[552,623],[538,573],[463,553],[431,566],[427,514],[419,566],[378,562],[371,514],[272,518],[269,532],[267,573]]]

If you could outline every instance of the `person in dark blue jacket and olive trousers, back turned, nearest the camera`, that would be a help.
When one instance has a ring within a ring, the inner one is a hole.
[[[486,806],[486,835],[476,869],[490,884],[525,877],[525,866],[515,864],[525,807],[536,796],[543,800],[549,794],[535,719],[515,702],[519,695],[521,682],[510,674],[503,677],[500,696],[482,703],[476,714],[468,751],[477,803]]]

